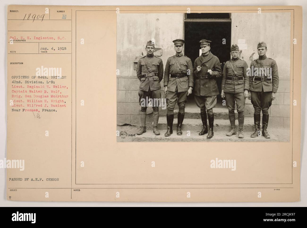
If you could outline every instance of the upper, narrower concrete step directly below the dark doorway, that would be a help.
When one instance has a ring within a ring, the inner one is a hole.
[[[179,110],[174,110],[174,116],[177,118]],[[228,118],[228,109],[227,107],[225,108],[213,108],[214,112],[214,117],[216,119],[229,119]],[[200,119],[200,109],[196,107],[192,108],[185,108],[185,118],[190,118],[190,119]],[[235,111],[235,118],[238,118],[238,113]]]

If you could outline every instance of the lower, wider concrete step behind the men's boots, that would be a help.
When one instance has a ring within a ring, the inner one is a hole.
[[[239,128],[238,119],[235,120],[235,125],[236,125],[236,128],[238,129]],[[194,131],[200,132],[202,129],[202,126],[203,125],[200,119],[184,118],[183,123],[182,123],[182,130],[183,131],[194,130]],[[261,127],[261,124],[260,124],[260,127]],[[177,128],[177,118],[174,118],[173,129],[176,130],[176,128]],[[159,130],[167,129],[166,117],[159,118],[158,129]],[[214,127],[213,127],[214,131],[229,131],[229,129],[230,129],[229,119],[214,119]],[[250,117],[244,118],[243,131],[252,132],[254,130],[255,130],[254,118],[250,118]]]

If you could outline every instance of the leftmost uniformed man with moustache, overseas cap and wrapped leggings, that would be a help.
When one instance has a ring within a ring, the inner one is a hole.
[[[138,135],[146,132],[146,110],[150,99],[153,107],[153,133],[159,135],[157,129],[159,120],[159,105],[161,101],[161,85],[163,78],[163,62],[161,58],[154,56],[154,43],[148,41],[145,48],[147,54],[138,60],[137,77],[140,80],[138,91],[139,104],[141,105],[141,128]]]

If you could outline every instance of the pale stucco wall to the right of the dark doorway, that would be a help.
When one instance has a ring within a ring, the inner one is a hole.
[[[247,46],[246,50],[242,50],[241,59],[250,66],[250,56],[255,53],[252,60],[258,58],[258,42],[265,41],[268,46],[266,56],[277,63],[279,88],[269,111],[270,125],[283,127],[290,126],[290,16],[290,13],[263,12],[231,14],[231,44],[237,44],[239,39],[245,39]],[[254,114],[253,106],[248,99],[245,114],[246,116]]]

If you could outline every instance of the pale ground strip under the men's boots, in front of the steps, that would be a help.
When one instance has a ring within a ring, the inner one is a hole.
[[[127,128],[129,127],[129,128]],[[125,131],[128,134],[135,134],[137,131],[136,127],[132,126],[118,126],[119,131]],[[276,142],[281,141],[280,138],[278,138],[278,134],[280,133],[280,129],[271,129],[269,131],[270,138],[266,139],[263,136],[258,136],[256,138],[251,138],[250,135],[252,132],[245,131],[244,138],[238,138],[238,134],[232,135],[232,136],[226,136],[226,133],[228,131],[221,131],[216,130],[214,131],[214,136],[211,139],[207,139],[207,134],[200,136],[198,135],[199,131],[191,130],[190,136],[187,136],[187,132],[183,131],[183,135],[177,135],[176,129],[173,129],[173,134],[171,136],[165,137],[164,133],[166,132],[166,129],[160,129],[160,135],[154,135],[153,130],[151,127],[147,129],[145,133],[142,135],[135,134],[135,137],[126,137],[121,138],[120,136],[117,137],[118,142],[129,142],[129,141],[136,141],[136,142]],[[286,132],[282,132],[282,134],[285,134]]]

